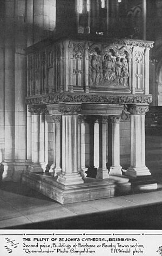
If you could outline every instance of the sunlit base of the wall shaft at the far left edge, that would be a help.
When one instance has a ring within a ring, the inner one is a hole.
[[[0,179],[2,181],[11,181],[14,173],[14,162],[2,162],[0,169]]]

